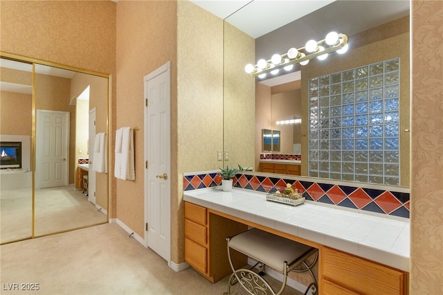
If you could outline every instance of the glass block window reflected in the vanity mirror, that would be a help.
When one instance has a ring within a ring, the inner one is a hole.
[[[309,176],[399,186],[399,57],[309,80]]]

